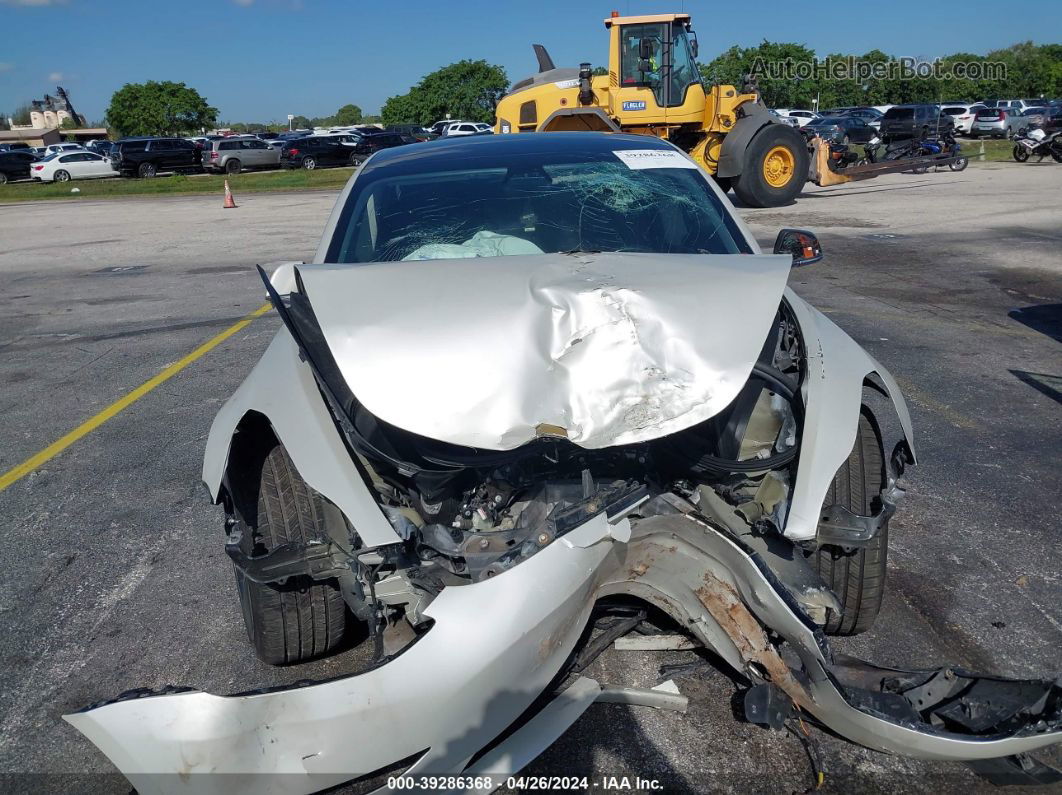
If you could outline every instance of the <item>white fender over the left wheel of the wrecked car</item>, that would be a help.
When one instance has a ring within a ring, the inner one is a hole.
[[[401,540],[355,466],[309,365],[299,359],[295,342],[282,328],[210,426],[203,482],[215,500],[233,434],[252,411],[269,419],[303,480],[343,512],[366,547]]]

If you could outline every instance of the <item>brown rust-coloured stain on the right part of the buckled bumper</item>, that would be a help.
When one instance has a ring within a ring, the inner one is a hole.
[[[704,575],[704,585],[696,591],[698,600],[722,627],[746,663],[755,662],[767,674],[767,678],[792,698],[793,704],[810,709],[811,695],[793,676],[789,666],[771,645],[764,627],[744,606],[734,588],[727,583]]]

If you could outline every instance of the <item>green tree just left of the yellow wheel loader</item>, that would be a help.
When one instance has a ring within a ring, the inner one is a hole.
[[[407,93],[392,97],[380,111],[384,124],[431,124],[447,114],[453,119],[494,121],[494,108],[509,89],[500,66],[459,61],[436,69]]]

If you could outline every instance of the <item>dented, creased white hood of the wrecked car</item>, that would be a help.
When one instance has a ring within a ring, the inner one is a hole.
[[[343,378],[378,418],[458,445],[645,442],[748,380],[788,256],[559,254],[303,265]]]

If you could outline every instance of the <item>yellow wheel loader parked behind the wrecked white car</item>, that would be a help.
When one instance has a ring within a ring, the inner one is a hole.
[[[495,133],[590,129],[666,138],[751,207],[778,207],[808,177],[808,148],[756,92],[705,88],[688,14],[613,16],[609,74],[590,65],[558,69],[534,45],[538,73],[516,83],[497,108]]]

